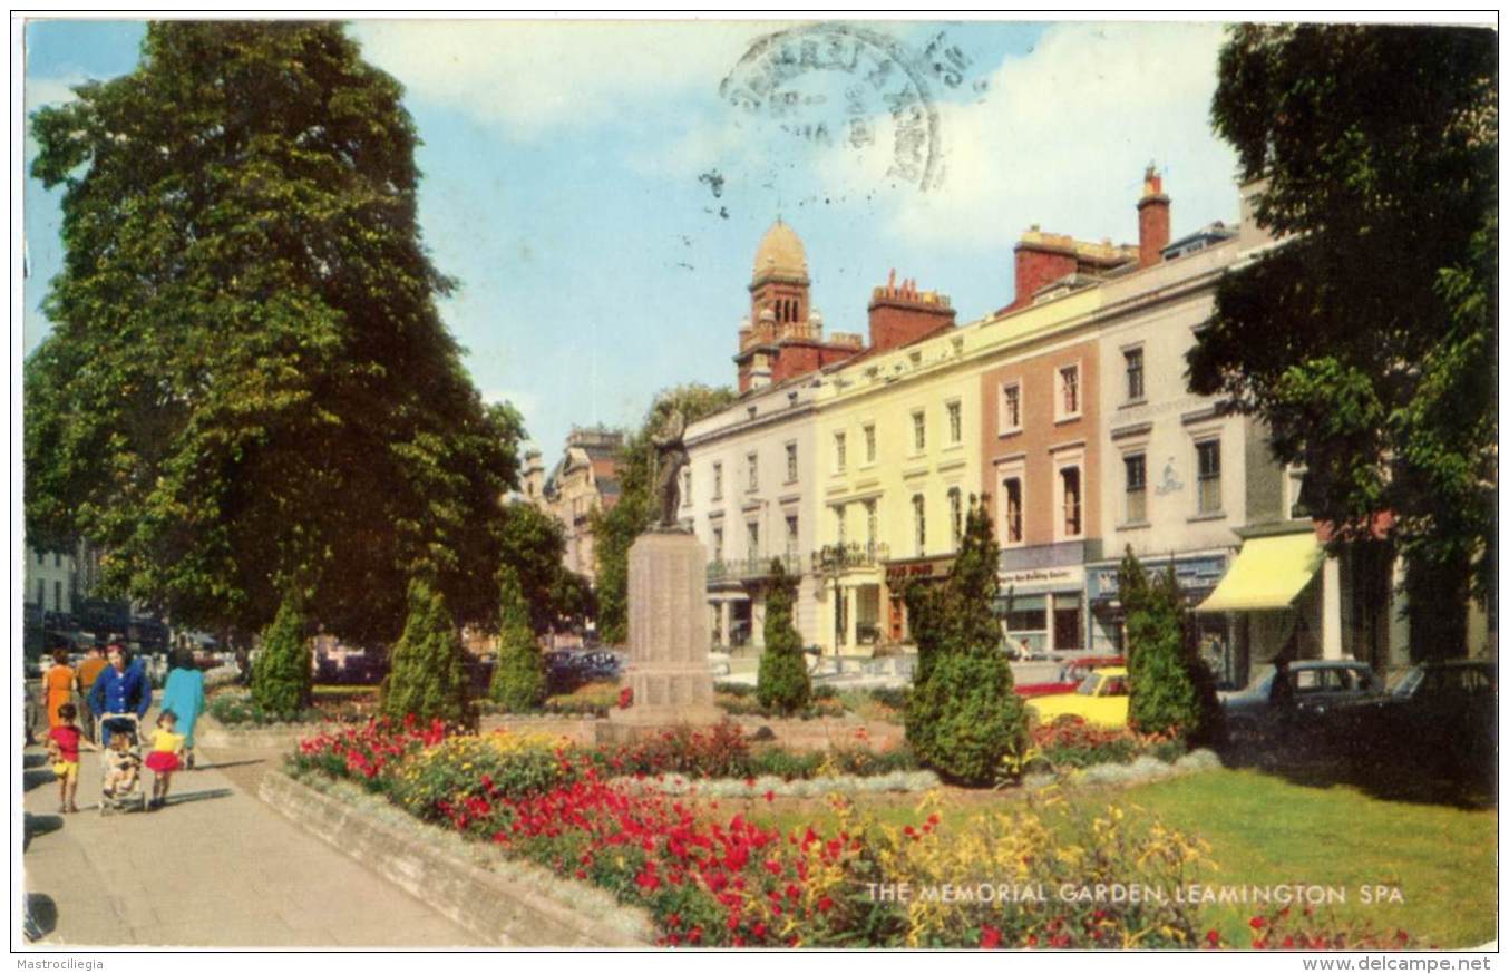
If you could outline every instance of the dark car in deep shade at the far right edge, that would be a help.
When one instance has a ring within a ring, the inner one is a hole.
[[[1357,758],[1482,775],[1497,763],[1497,663],[1447,660],[1412,666],[1385,696],[1346,705],[1337,731]]]

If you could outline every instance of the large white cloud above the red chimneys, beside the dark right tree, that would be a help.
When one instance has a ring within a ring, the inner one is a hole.
[[[946,178],[886,193],[887,231],[961,248],[1002,246],[1028,223],[1124,240],[1153,160],[1176,233],[1234,216],[1236,156],[1209,118],[1221,41],[1219,24],[1052,26],[996,69],[985,100],[939,106]],[[884,153],[824,160],[830,186],[878,186],[886,165]]]

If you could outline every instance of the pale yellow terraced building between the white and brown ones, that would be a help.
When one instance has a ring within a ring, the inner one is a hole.
[[[981,374],[1097,304],[1094,291],[1065,291],[824,373],[818,642],[827,651],[910,640],[905,589],[948,575],[981,494]]]

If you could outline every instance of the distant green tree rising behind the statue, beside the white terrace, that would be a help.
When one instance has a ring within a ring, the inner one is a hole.
[[[733,391],[726,387],[697,382],[664,390],[655,397],[640,429],[625,441],[619,465],[619,503],[611,510],[592,513],[598,550],[598,630],[605,642],[622,643],[629,637],[629,547],[658,516],[652,436],[676,409],[687,423],[694,423],[726,409],[735,399]]]

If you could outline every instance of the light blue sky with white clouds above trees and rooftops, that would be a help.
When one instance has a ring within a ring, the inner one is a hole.
[[[806,242],[827,329],[856,332],[892,267],[949,294],[963,323],[1011,299],[1011,246],[1031,223],[1135,242],[1153,160],[1176,236],[1236,219],[1236,159],[1209,125],[1219,26],[857,27],[928,82],[942,178],[927,187],[893,171],[890,115],[872,89],[851,91],[856,76],[798,72],[782,86],[798,104],[780,118],[720,95],[730,74],[750,77],[736,65],[751,45],[788,27],[350,26],[364,56],[404,85],[424,139],[424,239],[462,284],[444,319],[477,387],[524,412],[546,464],[573,424],[634,424],[662,387],[733,382],[754,248],[777,216]],[[29,24],[27,110],[133,69],[142,33]],[[854,116],[847,95],[878,133],[859,148],[841,131]],[[711,174],[718,195],[699,178]],[[27,181],[27,352],[48,328],[38,304],[62,258],[57,201]]]

